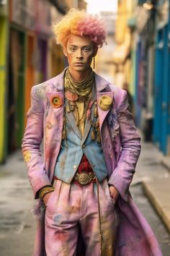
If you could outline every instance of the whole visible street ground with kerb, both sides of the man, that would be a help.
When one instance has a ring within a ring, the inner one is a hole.
[[[164,157],[156,146],[143,142],[130,190],[158,237],[164,256],[169,256],[170,168],[163,163]],[[20,151],[10,155],[6,164],[0,166],[0,187],[0,255],[30,256],[35,237],[35,218],[31,213],[34,200]]]

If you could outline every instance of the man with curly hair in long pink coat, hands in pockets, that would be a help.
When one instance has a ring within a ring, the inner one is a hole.
[[[22,144],[40,199],[34,255],[161,255],[130,197],[140,137],[127,94],[91,69],[104,24],[71,9],[53,31],[69,65],[32,88]],[[84,252],[77,249],[80,234]]]

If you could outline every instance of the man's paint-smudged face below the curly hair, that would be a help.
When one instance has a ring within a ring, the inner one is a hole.
[[[68,57],[70,71],[81,72],[89,69],[97,48],[89,38],[71,35],[63,52]]]

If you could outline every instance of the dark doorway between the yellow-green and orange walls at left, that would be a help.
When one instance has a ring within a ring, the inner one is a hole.
[[[25,46],[26,34],[19,27],[10,27],[8,111],[9,152],[20,148],[24,131],[24,87],[25,87]]]

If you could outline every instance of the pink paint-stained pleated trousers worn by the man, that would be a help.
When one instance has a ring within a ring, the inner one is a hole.
[[[86,256],[113,256],[117,231],[115,204],[105,179],[99,184],[102,253],[99,242],[97,184],[79,187],[55,181],[55,191],[45,212],[45,249],[48,256],[75,256],[78,228],[86,245]]]

